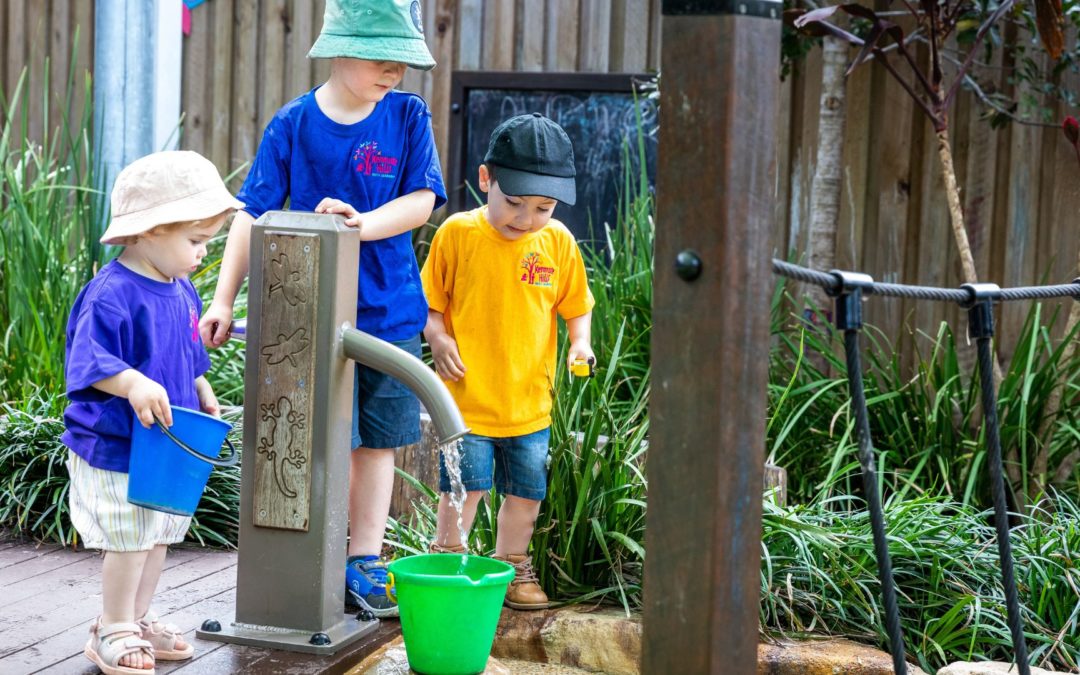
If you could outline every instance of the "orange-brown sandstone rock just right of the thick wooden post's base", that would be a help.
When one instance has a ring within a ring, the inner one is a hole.
[[[892,657],[847,639],[779,640],[757,646],[758,675],[892,675]],[[909,675],[926,675],[908,663]]]

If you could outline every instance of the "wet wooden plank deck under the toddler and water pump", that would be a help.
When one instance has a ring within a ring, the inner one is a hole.
[[[233,608],[237,554],[178,546],[165,558],[153,607],[195,645],[191,661],[158,664],[158,673],[346,673],[400,634],[396,620],[329,657],[195,639],[204,619]],[[97,673],[82,654],[102,609],[102,562],[95,551],[0,540],[0,673]],[[343,608],[342,608],[343,611]]]

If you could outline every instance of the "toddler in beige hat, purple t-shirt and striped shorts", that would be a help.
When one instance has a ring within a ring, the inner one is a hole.
[[[147,675],[191,658],[181,631],[150,599],[170,543],[191,518],[129,503],[132,426],[172,426],[170,406],[218,415],[199,337],[202,305],[188,275],[206,242],[243,206],[195,152],[158,152],[117,177],[102,243],[124,247],[79,294],[67,328],[64,411],[71,524],[105,551],[102,613],[84,653],[107,675]],[[137,418],[137,419],[136,419]]]

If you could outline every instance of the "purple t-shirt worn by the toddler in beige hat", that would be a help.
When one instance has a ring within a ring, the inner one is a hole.
[[[154,281],[118,260],[103,267],[68,319],[64,445],[91,467],[127,473],[135,411],[126,399],[92,387],[127,368],[164,387],[170,404],[198,410],[195,378],[210,369],[201,314],[187,279]]]

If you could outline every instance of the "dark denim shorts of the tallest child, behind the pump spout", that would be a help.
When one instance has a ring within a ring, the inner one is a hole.
[[[391,342],[416,357],[420,336]],[[420,442],[420,401],[386,373],[356,364],[352,390],[352,447],[397,448]]]

